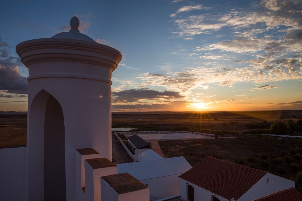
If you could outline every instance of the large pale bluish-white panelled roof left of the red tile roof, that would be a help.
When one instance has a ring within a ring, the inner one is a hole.
[[[128,172],[138,180],[182,174],[191,168],[183,156],[117,164],[118,173]]]

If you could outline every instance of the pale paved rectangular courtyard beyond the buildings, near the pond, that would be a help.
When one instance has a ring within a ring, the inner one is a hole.
[[[128,134],[128,137],[132,135]],[[213,138],[194,133],[159,133],[159,134],[138,134],[144,140],[174,140],[174,139],[201,139]]]

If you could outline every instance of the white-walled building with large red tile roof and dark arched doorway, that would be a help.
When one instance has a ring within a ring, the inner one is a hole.
[[[189,201],[247,201],[294,186],[266,171],[210,157],[179,176],[179,193]]]

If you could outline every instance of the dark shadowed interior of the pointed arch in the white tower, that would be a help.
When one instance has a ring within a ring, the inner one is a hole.
[[[44,201],[66,201],[65,128],[61,105],[47,100],[44,121]]]

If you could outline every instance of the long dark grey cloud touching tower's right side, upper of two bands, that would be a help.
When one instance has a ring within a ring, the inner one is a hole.
[[[185,96],[180,95],[178,92],[174,91],[167,91],[159,92],[155,90],[148,90],[148,89],[130,89],[124,90],[120,92],[113,92],[113,102],[137,102],[141,99],[181,99],[185,98]]]

